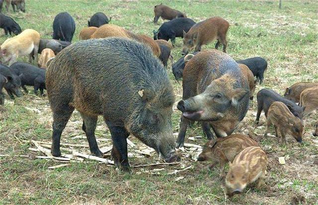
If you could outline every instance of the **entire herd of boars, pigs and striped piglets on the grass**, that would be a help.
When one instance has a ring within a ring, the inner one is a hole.
[[[17,3],[17,8],[25,11],[24,0],[6,1],[12,6]],[[2,3],[0,0],[1,7]],[[220,164],[227,195],[241,193],[252,182],[259,187],[266,174],[266,154],[253,139],[233,133],[248,111],[256,84],[264,80],[266,60],[252,57],[236,61],[226,54],[230,24],[221,17],[196,23],[185,13],[162,4],[155,6],[154,13],[156,24],[159,17],[170,20],[153,31],[154,38],[108,24],[111,17],[98,12],[80,31],[81,41],[73,45],[76,24],[67,12],[55,17],[53,39],[40,38],[33,29],[22,31],[12,18],[0,14],[5,35],[15,35],[1,44],[0,104],[5,99],[2,88],[11,99],[22,96],[20,88],[28,93],[25,86],[33,86],[35,95],[38,90],[44,95],[46,89],[53,112],[54,156],[61,155],[61,135],[75,109],[82,117],[90,152],[103,156],[94,134],[97,117],[102,115],[111,133],[113,160],[126,171],[130,171],[126,141],[129,135],[154,148],[166,162],[173,162],[180,160],[175,148],[183,147],[188,125],[199,121],[210,141],[198,161],[210,160],[209,168]],[[171,50],[176,38],[183,38],[184,56],[173,63]],[[202,51],[203,45],[215,40],[215,49]],[[220,45],[223,52],[218,51]],[[38,67],[16,62],[23,55],[29,56],[29,63],[34,59]],[[168,59],[175,79],[182,79],[177,139],[171,122],[175,94],[164,69]],[[255,124],[264,111],[264,136],[274,125],[282,143],[286,143],[286,135],[301,143],[303,117],[318,108],[317,93],[318,83],[305,82],[286,88],[284,97],[262,89],[257,93]],[[313,135],[318,136],[318,123]]]

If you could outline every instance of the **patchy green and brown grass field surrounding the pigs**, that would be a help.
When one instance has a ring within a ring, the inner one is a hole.
[[[271,88],[283,94],[286,87],[300,81],[318,79],[318,2],[315,0],[283,1],[278,9],[275,1],[136,1],[136,0],[27,0],[26,13],[9,13],[22,29],[32,28],[42,37],[51,38],[54,16],[68,11],[76,21],[73,43],[78,41],[80,29],[87,25],[89,17],[102,11],[112,16],[111,23],[123,26],[135,33],[152,35],[154,29],[153,6],[167,4],[185,11],[195,21],[210,16],[221,16],[231,26],[228,32],[228,54],[235,59],[262,56],[269,67],[263,85],[256,92]],[[162,20],[159,20],[162,23]],[[0,43],[7,37],[0,36]],[[181,57],[182,40],[177,39],[172,51],[174,59]],[[208,45],[204,49],[211,49]],[[27,61],[26,57],[20,60]],[[173,84],[176,100],[182,97],[182,82],[174,80],[171,67],[168,75]],[[31,88],[30,88],[31,89]],[[30,90],[29,89],[29,90]],[[30,109],[31,108],[31,109]],[[38,111],[32,111],[32,109]],[[288,204],[318,203],[318,140],[311,135],[317,114],[304,120],[305,135],[302,145],[288,139],[288,144],[277,144],[276,137],[264,138],[264,116],[259,127],[254,127],[255,100],[251,102],[246,117],[235,131],[252,136],[267,153],[269,164],[266,185],[261,190],[247,188],[240,196],[226,199],[218,176],[218,169],[207,171],[206,163],[195,162],[192,156],[198,151],[182,153],[181,164],[162,166],[159,175],[151,174],[154,168],[134,168],[132,174],[118,173],[114,167],[90,163],[72,163],[71,166],[49,170],[49,166],[60,162],[37,159],[40,153],[31,152],[33,147],[23,140],[49,142],[52,132],[52,117],[47,98],[23,96],[14,101],[6,96],[5,105],[0,107],[0,204]],[[180,112],[172,115],[173,131],[179,127]],[[72,139],[83,135],[79,113],[74,113],[65,129],[62,142],[83,143],[85,139]],[[99,119],[98,138],[110,139],[109,131]],[[273,129],[271,130],[273,133]],[[203,136],[200,126],[194,125],[187,131],[189,136]],[[135,138],[131,140],[143,146]],[[191,142],[204,145],[205,138]],[[110,143],[110,142],[108,142]],[[131,150],[130,150],[131,151]],[[82,149],[82,152],[89,152]],[[28,158],[15,155],[25,154]],[[278,164],[279,156],[287,156],[286,165]],[[130,157],[132,165],[154,163],[158,155]],[[177,175],[167,175],[174,169],[192,165],[191,169]],[[184,178],[174,181],[177,177]]]

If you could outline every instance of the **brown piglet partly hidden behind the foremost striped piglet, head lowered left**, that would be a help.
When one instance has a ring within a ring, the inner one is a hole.
[[[225,177],[225,165],[245,148],[258,146],[257,142],[244,135],[233,134],[227,137],[210,140],[202,153],[198,156],[198,161],[210,160],[210,170],[217,163],[220,163],[220,177]]]

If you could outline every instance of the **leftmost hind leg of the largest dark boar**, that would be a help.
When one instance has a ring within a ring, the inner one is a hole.
[[[68,123],[74,107],[69,106],[68,104],[60,104],[59,107],[53,111],[53,135],[52,135],[52,147],[51,154],[53,156],[61,156],[60,150],[60,141],[62,132]]]

